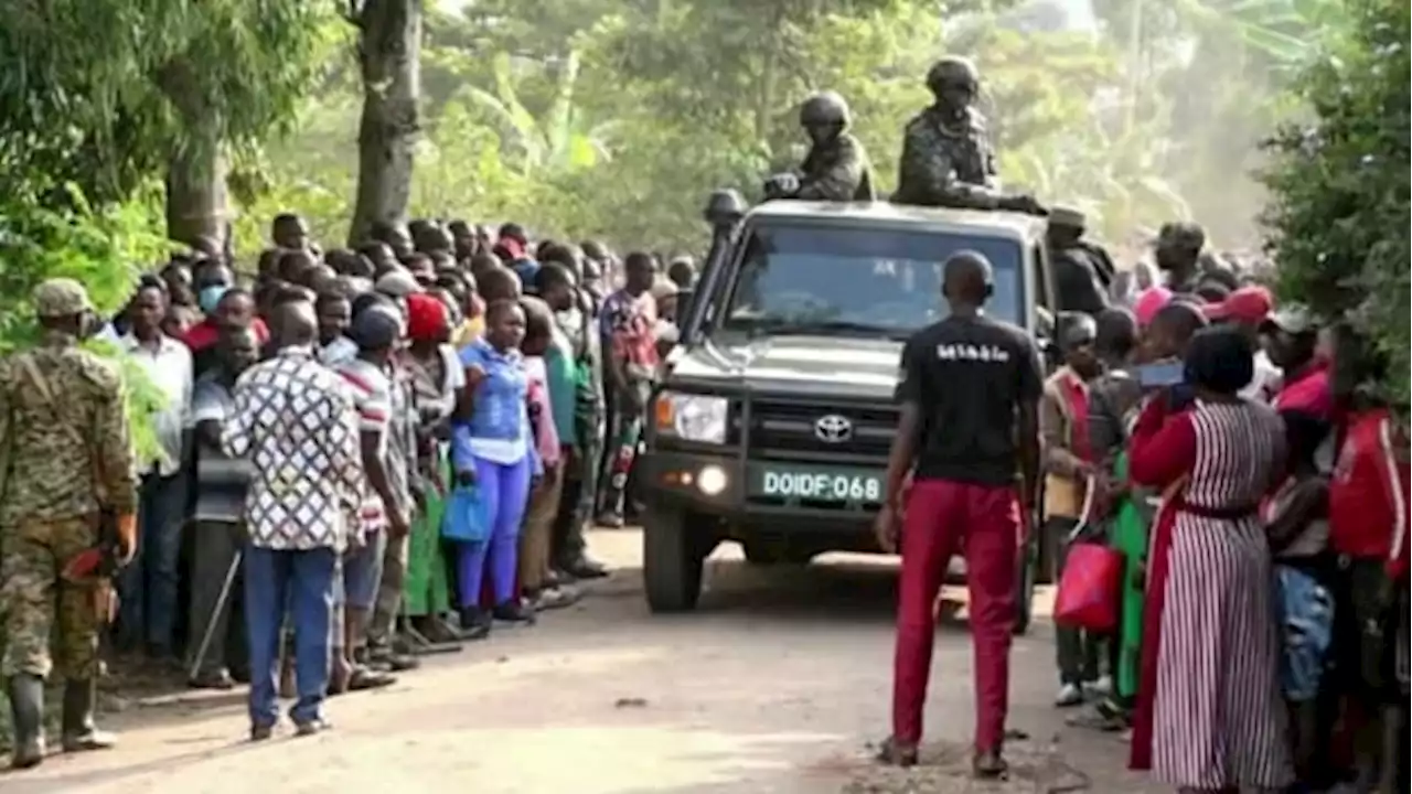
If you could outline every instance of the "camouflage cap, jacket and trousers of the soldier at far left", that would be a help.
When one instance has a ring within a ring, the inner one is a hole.
[[[88,297],[79,284],[54,280],[35,291],[35,305],[41,315],[78,314]],[[23,357],[61,400],[44,398]],[[48,677],[52,636],[59,674],[90,678],[99,632],[92,592],[55,572],[96,543],[100,507],[137,510],[114,366],[55,331],[37,349],[0,362],[0,613],[8,639],[0,672]]]

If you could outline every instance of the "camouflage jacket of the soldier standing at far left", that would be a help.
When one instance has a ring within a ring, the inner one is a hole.
[[[137,510],[121,376],[47,332],[0,360],[0,527]]]

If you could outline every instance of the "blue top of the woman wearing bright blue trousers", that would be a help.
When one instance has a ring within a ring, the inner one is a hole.
[[[452,462],[457,470],[473,466],[472,458],[496,463],[518,463],[534,458],[535,473],[542,473],[530,428],[530,377],[520,350],[496,350],[484,338],[460,350],[466,369],[484,373],[472,397],[469,421],[452,428]]]

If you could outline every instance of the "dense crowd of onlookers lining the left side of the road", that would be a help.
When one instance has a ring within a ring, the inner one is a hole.
[[[75,486],[119,516],[119,606],[103,639],[120,665],[179,670],[195,688],[249,682],[254,739],[274,730],[281,694],[295,698],[295,730],[315,733],[326,697],[385,687],[497,624],[532,624],[578,600],[576,582],[607,575],[585,528],[635,510],[645,404],[695,278],[689,259],[531,249],[513,223],[418,220],[371,237],[321,251],[304,220],[281,215],[257,273],[202,239],[143,275],[116,316],[88,319],[86,292],[65,280],[35,297],[41,350],[93,335],[152,393],[141,422],[152,442],[134,445],[121,421],[107,444],[136,451],[133,479],[96,483],[102,497]],[[37,473],[72,482],[90,469],[56,463],[68,472]],[[11,472],[10,493],[28,487]],[[45,562],[31,562],[35,592],[52,592]],[[59,648],[92,639],[82,660],[56,658],[89,699],[99,664],[96,626],[35,606],[48,616],[7,619],[17,766],[42,757],[40,637],[58,624]],[[80,711],[86,746],[109,746],[92,704]]]

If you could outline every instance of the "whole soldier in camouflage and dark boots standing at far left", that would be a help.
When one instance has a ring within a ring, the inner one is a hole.
[[[64,677],[64,750],[100,750],[93,725],[99,630],[114,564],[137,548],[137,479],[117,370],[78,346],[92,324],[71,278],[35,290],[42,338],[0,362],[0,660],[14,721],[11,766],[44,760],[44,681]],[[116,548],[100,547],[103,516]],[[116,558],[116,559],[114,559]],[[52,647],[52,657],[51,657]]]

